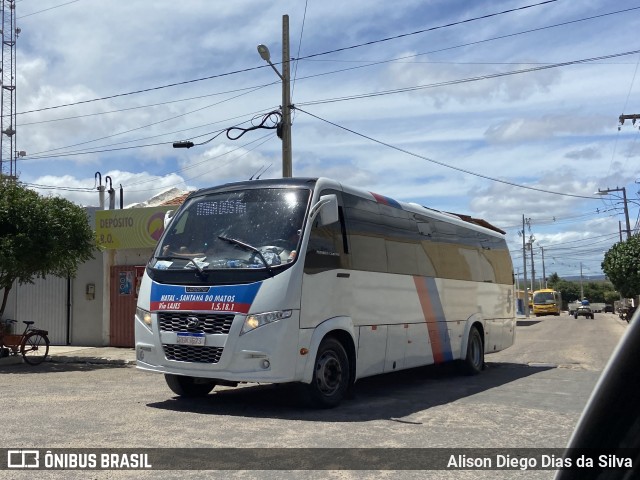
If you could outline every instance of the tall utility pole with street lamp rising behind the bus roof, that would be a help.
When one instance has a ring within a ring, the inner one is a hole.
[[[282,177],[292,177],[291,162],[291,81],[289,57],[289,15],[282,16],[282,73],[271,63],[271,54],[266,45],[258,45],[260,57],[271,65],[282,80]]]

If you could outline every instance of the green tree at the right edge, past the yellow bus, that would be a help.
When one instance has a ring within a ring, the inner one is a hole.
[[[614,244],[602,261],[602,271],[623,297],[640,293],[640,236]]]

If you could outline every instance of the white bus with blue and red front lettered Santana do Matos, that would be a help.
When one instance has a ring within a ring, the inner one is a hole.
[[[502,233],[326,178],[193,193],[140,286],[139,369],[179,396],[299,382],[334,407],[360,378],[513,344]]]

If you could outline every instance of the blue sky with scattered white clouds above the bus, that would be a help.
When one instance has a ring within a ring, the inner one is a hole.
[[[622,188],[638,231],[640,0],[17,0],[19,180],[97,206],[280,177],[275,130],[225,130],[273,125],[285,14],[294,176],[483,218],[520,279],[523,238],[538,279],[601,275]]]

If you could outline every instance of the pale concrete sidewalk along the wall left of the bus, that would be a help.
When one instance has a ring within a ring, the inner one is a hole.
[[[101,365],[135,365],[136,354],[133,348],[118,347],[74,347],[52,345],[47,355],[48,362],[89,363]],[[0,366],[23,363],[22,355],[0,358]]]

